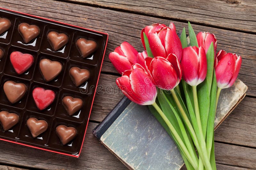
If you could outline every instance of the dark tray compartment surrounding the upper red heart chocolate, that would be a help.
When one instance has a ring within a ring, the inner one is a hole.
[[[23,54],[28,53],[28,54],[31,54],[34,57],[33,64],[28,68],[27,71],[25,71],[24,73],[22,73],[20,75],[17,74],[17,72],[13,68],[11,60],[10,60],[10,55],[14,51],[19,51]],[[27,80],[31,80],[32,76],[33,76],[35,66],[36,66],[36,59],[37,59],[37,53],[36,52],[28,50],[28,49],[24,49],[24,48],[11,46],[9,48],[9,51],[8,51],[8,54],[7,54],[7,57],[6,57],[6,62],[5,62],[5,67],[4,67],[4,74],[19,77],[19,78],[23,78],[23,79],[27,79]]]

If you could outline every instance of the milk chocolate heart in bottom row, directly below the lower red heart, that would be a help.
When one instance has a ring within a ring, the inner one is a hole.
[[[48,123],[45,120],[38,120],[35,117],[30,117],[27,120],[27,126],[33,138],[36,138],[48,128]]]

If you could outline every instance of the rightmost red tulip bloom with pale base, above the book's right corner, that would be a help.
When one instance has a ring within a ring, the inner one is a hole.
[[[241,56],[220,50],[215,58],[214,68],[217,86],[221,89],[231,87],[236,81],[242,63]]]

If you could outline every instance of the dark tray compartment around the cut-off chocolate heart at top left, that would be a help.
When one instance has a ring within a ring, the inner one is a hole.
[[[9,44],[12,38],[12,31],[15,25],[16,16],[11,12],[0,11],[0,18],[7,18],[11,21],[11,27],[4,33],[0,35],[0,42],[4,44]]]

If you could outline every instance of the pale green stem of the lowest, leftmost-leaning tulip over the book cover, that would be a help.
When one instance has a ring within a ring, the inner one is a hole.
[[[169,121],[169,119],[165,116],[164,112],[159,108],[159,106],[155,103],[152,104],[152,106],[157,110],[159,115],[164,119],[164,122],[169,127],[170,131],[172,132],[173,136],[176,138],[177,142],[180,145],[180,148],[182,149],[183,153],[186,155],[187,159],[189,160],[190,164],[195,168],[198,169],[197,164],[193,161],[191,155],[188,152],[188,149],[186,145],[183,143],[182,139],[180,138],[179,134],[175,130],[175,128],[172,126],[172,123]]]

